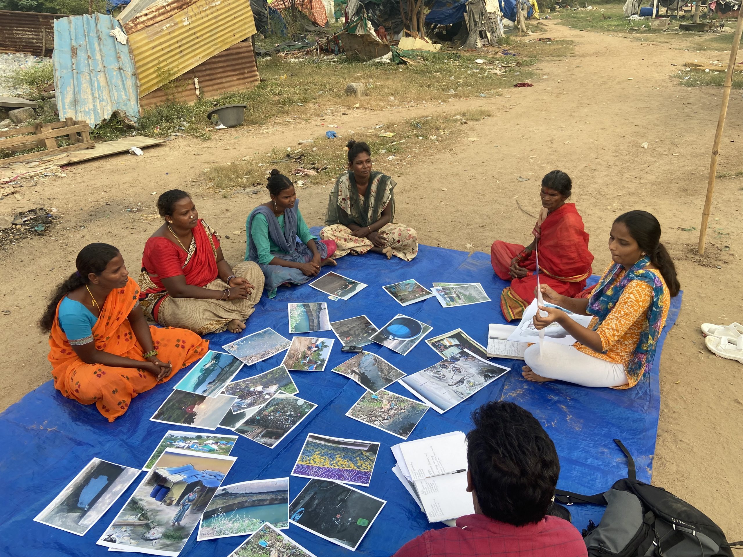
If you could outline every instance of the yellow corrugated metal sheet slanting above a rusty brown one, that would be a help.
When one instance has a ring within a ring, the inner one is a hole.
[[[256,33],[247,0],[160,0],[123,27],[140,97]]]

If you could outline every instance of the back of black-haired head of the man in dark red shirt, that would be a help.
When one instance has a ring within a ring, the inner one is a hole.
[[[482,513],[514,526],[541,521],[559,476],[547,432],[530,412],[502,401],[482,405],[472,420],[467,463]]]

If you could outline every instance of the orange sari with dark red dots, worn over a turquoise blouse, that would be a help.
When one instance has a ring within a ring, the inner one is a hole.
[[[97,350],[143,362],[143,350],[129,325],[129,313],[137,303],[139,287],[134,279],[123,288],[111,290],[93,327]],[[59,311],[59,306],[57,307]],[[161,362],[173,366],[166,382],[181,368],[195,362],[209,350],[209,341],[190,330],[150,327],[152,342]],[[71,347],[65,331],[55,316],[49,335],[49,362],[52,365],[54,388],[65,397],[82,404],[95,404],[109,422],[129,408],[137,394],[158,384],[149,371],[137,368],[112,368],[102,364],[86,364]]]

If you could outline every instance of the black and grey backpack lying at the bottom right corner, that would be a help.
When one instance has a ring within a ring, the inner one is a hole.
[[[563,504],[606,506],[600,523],[588,521],[583,530],[589,557],[733,557],[717,524],[662,487],[638,481],[632,455],[620,440],[614,442],[627,457],[629,478],[597,495],[560,489],[555,495],[555,500]]]

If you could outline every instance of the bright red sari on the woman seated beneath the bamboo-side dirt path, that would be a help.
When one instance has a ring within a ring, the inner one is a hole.
[[[548,284],[557,293],[577,297],[585,288],[585,279],[591,275],[594,256],[588,251],[588,234],[583,219],[574,203],[565,203],[554,210],[544,222],[534,229],[538,235],[539,281]],[[495,241],[490,248],[493,270],[503,280],[510,280],[510,287],[501,293],[501,310],[508,321],[521,319],[524,310],[534,299],[536,288],[536,256],[531,255],[521,263],[528,276],[511,280],[508,274],[511,260],[524,246]]]

